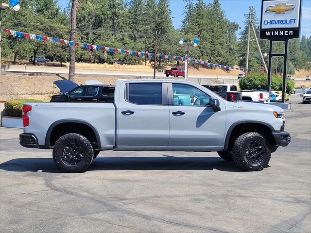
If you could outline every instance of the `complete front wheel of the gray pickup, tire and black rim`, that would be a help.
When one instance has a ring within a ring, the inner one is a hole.
[[[268,165],[271,151],[265,138],[256,132],[244,133],[233,145],[234,162],[245,171],[259,171]]]

